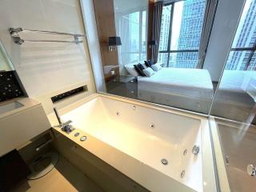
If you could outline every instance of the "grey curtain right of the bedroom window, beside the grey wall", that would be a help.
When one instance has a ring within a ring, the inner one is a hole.
[[[206,0],[205,16],[202,23],[202,34],[198,51],[198,64],[196,66],[197,69],[203,68],[217,6],[218,0]]]

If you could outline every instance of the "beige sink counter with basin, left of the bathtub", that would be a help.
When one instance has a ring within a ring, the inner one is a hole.
[[[2,102],[0,112],[0,157],[50,129],[41,103],[33,99]]]

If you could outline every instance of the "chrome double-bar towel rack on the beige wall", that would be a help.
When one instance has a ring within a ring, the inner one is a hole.
[[[20,32],[32,32],[32,33],[41,33],[41,34],[58,34],[58,35],[65,35],[65,36],[73,36],[74,41],[62,41],[62,40],[26,40],[22,39],[19,35]],[[56,31],[47,31],[47,30],[26,30],[22,27],[18,28],[10,28],[9,33],[11,38],[14,40],[14,43],[18,45],[22,45],[24,42],[68,42],[68,43],[81,43],[82,40],[79,38],[86,37],[85,34],[70,34],[70,33],[62,33]]]

